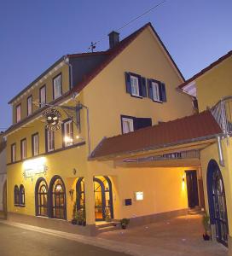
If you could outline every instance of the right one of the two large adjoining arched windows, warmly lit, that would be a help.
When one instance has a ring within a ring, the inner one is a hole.
[[[51,218],[66,219],[66,189],[61,177],[51,179],[49,191],[51,195]]]

